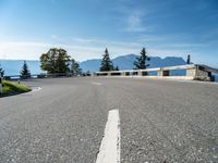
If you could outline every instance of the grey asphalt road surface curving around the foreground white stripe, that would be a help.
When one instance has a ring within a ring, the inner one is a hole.
[[[95,163],[118,109],[121,162],[218,162],[218,84],[140,78],[34,79],[0,99],[0,162]]]

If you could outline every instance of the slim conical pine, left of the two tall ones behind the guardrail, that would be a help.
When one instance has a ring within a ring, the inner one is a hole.
[[[113,71],[113,64],[112,64],[112,61],[110,60],[110,55],[109,55],[107,48],[105,50],[105,54],[102,55],[101,65],[100,65],[99,71],[100,72]]]

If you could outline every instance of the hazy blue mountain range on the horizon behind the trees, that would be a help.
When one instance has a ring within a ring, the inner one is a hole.
[[[138,55],[126,54],[112,59],[113,65],[119,66],[120,70],[132,70],[134,68],[133,62]],[[83,72],[89,71],[90,73],[99,71],[101,59],[93,59],[80,62],[80,66]],[[23,60],[0,60],[0,67],[4,70],[5,75],[19,75],[23,65]],[[40,74],[40,62],[35,60],[26,61],[28,68],[32,74]],[[173,66],[173,65],[183,65],[185,61],[182,58],[167,57],[161,59],[159,57],[152,57],[148,62],[148,67],[161,67],[161,66]]]

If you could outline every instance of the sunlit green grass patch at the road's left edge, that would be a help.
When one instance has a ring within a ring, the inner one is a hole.
[[[3,85],[3,95],[0,95],[0,97],[12,96],[12,95],[31,91],[31,88],[22,84],[17,84],[15,82],[3,80],[2,85]]]

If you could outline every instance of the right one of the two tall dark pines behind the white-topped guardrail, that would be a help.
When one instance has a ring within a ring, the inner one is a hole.
[[[146,54],[145,48],[141,51],[141,55],[136,58],[136,61],[134,62],[135,70],[146,70],[149,64],[147,64],[147,61],[150,59]]]

